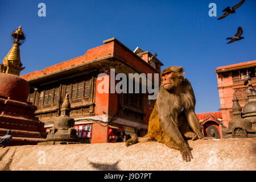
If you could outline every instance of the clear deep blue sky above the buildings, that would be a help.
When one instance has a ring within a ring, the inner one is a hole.
[[[1,0],[0,59],[19,25],[27,36],[20,47],[26,67],[21,75],[84,55],[115,37],[131,50],[157,52],[162,69],[183,66],[196,95],[196,113],[218,111],[215,69],[256,60],[256,1],[246,0],[236,14],[217,20],[239,1]],[[38,16],[40,2],[46,4],[46,17]],[[216,3],[217,17],[208,15],[209,3]],[[239,26],[245,39],[226,44]]]

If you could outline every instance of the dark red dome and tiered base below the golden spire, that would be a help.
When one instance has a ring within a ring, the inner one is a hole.
[[[44,123],[34,116],[36,106],[26,102],[30,86],[19,76],[0,73],[0,137],[11,130],[10,146],[37,144],[46,139]]]

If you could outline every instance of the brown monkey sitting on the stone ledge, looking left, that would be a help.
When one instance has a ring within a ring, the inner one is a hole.
[[[180,150],[182,159],[190,162],[192,148],[185,139],[201,139],[200,123],[195,114],[195,94],[183,67],[168,67],[161,73],[162,84],[148,123],[145,137],[133,137],[126,145],[156,139]]]

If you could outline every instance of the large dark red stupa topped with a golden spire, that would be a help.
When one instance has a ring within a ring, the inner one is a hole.
[[[27,102],[30,85],[19,77],[24,69],[19,46],[25,39],[22,27],[12,34],[13,47],[0,64],[0,138],[11,130],[13,141],[9,146],[37,144],[46,139],[44,123],[35,117],[36,106]]]

